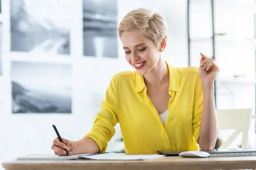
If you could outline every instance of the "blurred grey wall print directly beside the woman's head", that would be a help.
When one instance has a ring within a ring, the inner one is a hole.
[[[117,56],[117,0],[83,0],[84,56]]]

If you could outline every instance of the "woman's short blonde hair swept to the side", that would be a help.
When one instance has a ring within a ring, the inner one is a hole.
[[[168,40],[168,26],[164,17],[146,8],[137,8],[125,15],[118,28],[120,38],[124,31],[139,31],[156,47],[160,46],[163,38],[166,42]]]

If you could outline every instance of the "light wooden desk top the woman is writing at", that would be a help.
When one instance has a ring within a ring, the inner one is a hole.
[[[256,169],[256,156],[222,158],[162,157],[146,161],[30,161],[3,162],[6,170],[234,170]]]

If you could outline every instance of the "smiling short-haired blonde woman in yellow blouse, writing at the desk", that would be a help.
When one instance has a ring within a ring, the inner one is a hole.
[[[53,141],[64,156],[103,153],[120,123],[126,153],[213,149],[218,135],[214,81],[219,68],[201,54],[200,68],[173,68],[166,48],[164,18],[145,8],[125,15],[118,32],[127,62],[135,71],[116,74],[90,133],[79,141]],[[199,61],[198,61],[199,62]],[[204,105],[204,107],[203,107]]]

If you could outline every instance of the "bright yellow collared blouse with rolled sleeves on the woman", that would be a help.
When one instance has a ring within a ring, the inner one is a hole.
[[[197,67],[174,68],[170,75],[166,125],[146,93],[143,76],[136,71],[116,74],[106,91],[102,109],[86,135],[105,152],[120,123],[126,153],[156,153],[157,150],[197,150],[203,111],[203,90]],[[84,137],[86,137],[84,136]]]

